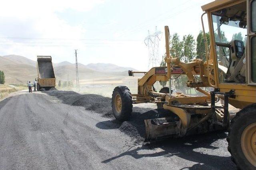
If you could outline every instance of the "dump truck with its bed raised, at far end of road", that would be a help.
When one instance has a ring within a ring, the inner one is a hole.
[[[37,56],[38,84],[37,90],[49,90],[54,88],[56,78],[52,66],[51,56]]]

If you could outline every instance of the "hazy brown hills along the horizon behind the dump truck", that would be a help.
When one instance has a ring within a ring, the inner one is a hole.
[[[64,61],[54,63],[54,72],[57,80],[76,80],[76,66]],[[6,83],[26,83],[37,78],[36,61],[19,55],[0,56],[0,70],[4,70]],[[88,64],[78,63],[79,79],[107,78],[127,76],[127,70],[135,70],[129,67],[120,67],[115,64]]]

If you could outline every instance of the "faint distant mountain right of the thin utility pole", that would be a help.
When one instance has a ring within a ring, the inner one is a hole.
[[[97,70],[100,72],[124,72],[128,70],[136,70],[135,68],[131,67],[121,67],[117,66],[115,64],[110,64],[110,63],[90,63],[85,65],[87,68],[90,68],[92,70]]]

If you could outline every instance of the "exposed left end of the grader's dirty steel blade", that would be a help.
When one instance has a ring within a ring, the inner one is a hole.
[[[144,123],[146,126],[145,141],[168,138],[180,133],[181,121],[170,122],[168,117],[158,119],[145,119]]]

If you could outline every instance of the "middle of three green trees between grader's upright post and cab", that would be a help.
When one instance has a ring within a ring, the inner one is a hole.
[[[188,63],[194,59],[195,53],[195,40],[191,34],[184,35],[182,39],[182,57],[181,60]]]

